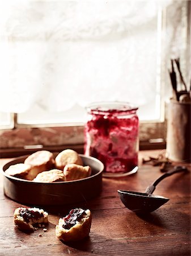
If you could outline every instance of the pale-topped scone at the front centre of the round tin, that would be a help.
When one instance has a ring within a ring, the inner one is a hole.
[[[57,169],[41,172],[36,176],[35,179],[33,179],[33,181],[36,181],[36,182],[46,182],[46,183],[56,182],[56,181],[65,181],[65,180],[66,178],[63,175],[63,171],[57,170]]]

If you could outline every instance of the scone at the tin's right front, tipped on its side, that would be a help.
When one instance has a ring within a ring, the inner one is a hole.
[[[66,164],[63,168],[66,180],[79,180],[91,175],[90,166],[79,166],[78,164]]]

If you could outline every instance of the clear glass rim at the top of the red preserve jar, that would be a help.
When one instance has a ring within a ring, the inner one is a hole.
[[[123,101],[101,101],[92,102],[86,106],[88,111],[96,112],[129,112],[138,110],[138,106],[131,104],[130,102]]]

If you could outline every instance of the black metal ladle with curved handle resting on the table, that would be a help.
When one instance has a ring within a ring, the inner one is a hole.
[[[150,186],[147,187],[145,193],[126,191],[126,190],[118,190],[118,194],[122,203],[126,208],[133,210],[136,213],[148,213],[153,212],[154,210],[161,207],[163,204],[167,203],[169,200],[163,196],[152,195],[154,192],[156,185],[162,181],[165,177],[171,176],[172,174],[176,174],[177,172],[187,171],[184,166],[176,166],[173,167],[172,170],[166,172],[162,176],[160,176],[157,180],[154,181]]]

